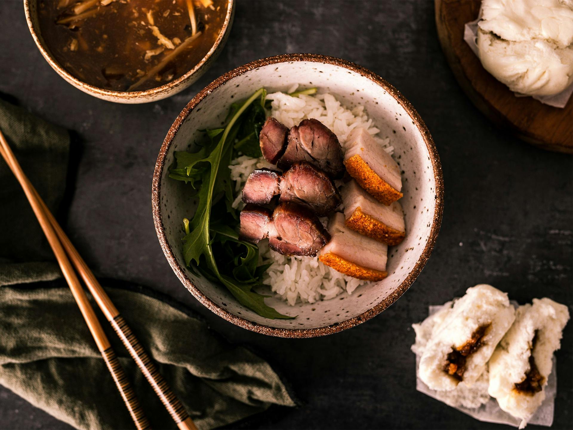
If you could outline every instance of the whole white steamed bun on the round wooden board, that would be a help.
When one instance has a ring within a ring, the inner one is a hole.
[[[573,83],[572,0],[484,0],[481,64],[525,95],[548,96]]]

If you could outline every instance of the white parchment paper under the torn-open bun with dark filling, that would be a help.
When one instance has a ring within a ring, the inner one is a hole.
[[[512,304],[515,307],[519,306],[516,302],[513,302],[513,300]],[[435,314],[435,312],[439,311],[443,306],[444,305],[430,306],[428,310],[428,316]],[[441,393],[438,391],[430,390],[427,385],[424,384],[420,378],[418,378],[419,361],[420,356],[416,354],[416,389],[419,392],[426,394],[426,396],[430,396],[436,400],[441,401],[442,403],[446,403],[444,398],[441,396]],[[556,392],[557,374],[555,357],[553,357],[553,369],[550,376],[547,378],[547,386],[545,386],[545,400],[543,403],[541,403],[541,406],[539,406],[539,409],[537,409],[535,415],[531,417],[531,420],[529,420],[527,424],[546,425],[547,427],[551,427],[553,424]],[[502,411],[499,405],[497,405],[497,401],[493,397],[490,397],[489,401],[481,405],[479,408],[469,409],[465,408],[464,406],[452,407],[458,411],[464,412],[466,415],[469,415],[476,420],[484,421],[484,423],[507,424],[513,427],[519,427],[521,423],[520,419],[512,417],[509,415],[509,413]]]

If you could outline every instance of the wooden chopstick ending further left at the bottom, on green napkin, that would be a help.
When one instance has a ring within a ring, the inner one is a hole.
[[[36,190],[30,184],[28,178],[26,178],[22,173],[21,167],[14,158],[14,154],[7,146],[6,139],[4,138],[1,131],[0,144],[0,155],[2,155],[2,157],[8,163],[10,170],[13,171],[15,177],[18,179],[18,182],[20,182],[22,185],[22,189],[24,190],[26,197],[28,197],[28,200],[30,201],[30,205],[32,206],[32,209],[34,210],[34,213],[40,222],[40,226],[42,230],[44,230],[46,239],[48,239],[50,247],[52,248],[54,255],[56,255],[56,259],[60,264],[60,268],[64,274],[66,282],[68,283],[70,290],[72,290],[72,294],[76,300],[77,306],[80,308],[81,314],[85,319],[88,329],[96,342],[97,349],[100,351],[101,356],[103,357],[105,364],[108,367],[109,373],[111,373],[113,381],[115,382],[115,385],[121,394],[121,398],[123,398],[123,401],[125,402],[125,406],[127,406],[129,415],[131,415],[132,420],[134,420],[134,423],[139,430],[151,428],[150,423],[147,420],[141,405],[139,404],[139,400],[136,397],[134,390],[131,388],[131,384],[129,384],[127,376],[125,376],[125,372],[121,367],[119,360],[117,359],[117,355],[115,354],[115,351],[113,351],[111,344],[109,343],[109,339],[105,335],[103,327],[101,327],[100,322],[97,319],[95,311],[93,310],[91,304],[89,304],[88,296],[85,294],[85,291],[80,284],[80,280],[78,279],[76,273],[73,271],[72,264],[66,257],[64,248],[62,248],[56,232],[45,216],[44,211],[47,210],[46,206],[42,206],[43,202],[38,201],[36,198]]]

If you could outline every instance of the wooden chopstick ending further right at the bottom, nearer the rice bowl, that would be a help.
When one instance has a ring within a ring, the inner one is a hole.
[[[57,245],[60,247],[59,249],[62,252],[64,252],[65,249],[64,257],[65,253],[67,253],[69,259],[72,260],[74,267],[84,280],[84,283],[88,287],[89,291],[92,293],[93,297],[97,302],[97,305],[104,313],[105,318],[107,318],[113,329],[116,331],[116,334],[119,336],[121,342],[123,342],[123,344],[129,351],[129,354],[135,360],[140,370],[142,370],[143,375],[146,377],[147,381],[151,384],[155,393],[159,396],[163,405],[166,407],[172,419],[177,424],[177,427],[180,430],[196,430],[197,428],[195,427],[193,420],[191,420],[191,417],[189,416],[189,414],[187,413],[187,411],[185,410],[179,399],[175,396],[171,388],[168,386],[167,382],[158,372],[158,369],[156,368],[155,364],[151,361],[151,358],[148,356],[146,351],[139,343],[138,339],[132,333],[127,323],[125,323],[125,320],[120,315],[117,308],[113,305],[111,299],[109,299],[109,296],[105,293],[100,283],[93,275],[92,271],[88,268],[87,264],[85,264],[85,261],[81,258],[76,248],[74,248],[74,246],[64,233],[64,230],[62,230],[60,225],[58,225],[56,219],[53,217],[52,213],[50,213],[49,209],[44,204],[44,201],[42,201],[42,199],[40,198],[40,196],[38,195],[37,191],[34,189],[32,184],[30,183],[28,178],[26,178],[21,167],[16,161],[14,154],[11,153],[10,147],[8,146],[6,139],[2,135],[1,131],[0,131],[0,143],[1,146],[3,147],[2,157],[6,159],[8,165],[10,166],[10,169],[13,171],[14,175],[20,182],[20,185],[24,189],[26,197],[28,197],[28,200],[32,205],[32,208],[34,209],[34,213],[36,213],[36,217],[38,218],[38,221],[40,221],[42,229],[44,229],[46,237],[48,236],[48,233],[46,233],[45,224],[46,227],[48,227],[48,230],[54,233],[57,236],[57,239],[59,239],[56,240]],[[38,212],[35,206],[38,207]],[[54,249],[54,247],[52,247],[52,249]],[[58,257],[58,253],[56,253],[55,250],[54,253],[56,254],[56,257],[58,258],[59,262],[60,258]],[[67,258],[66,261],[69,264],[69,260]],[[61,263],[60,266],[62,267]],[[63,268],[62,272],[64,272]],[[66,276],[66,272],[64,272],[64,276],[66,277],[67,280],[68,276]],[[73,276],[77,280],[77,276],[75,275],[75,273],[73,273]],[[85,296],[85,293],[81,288],[81,285],[79,284],[79,280],[77,280],[77,285],[79,286],[81,292]],[[72,288],[71,284],[70,288]],[[89,302],[87,302],[87,297],[86,297],[86,303],[89,306]],[[103,329],[101,330],[101,334],[103,334]]]

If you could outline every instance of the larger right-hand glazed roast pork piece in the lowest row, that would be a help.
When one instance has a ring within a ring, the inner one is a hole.
[[[274,209],[273,228],[269,247],[281,254],[314,257],[330,240],[319,218],[292,202],[282,202]]]

